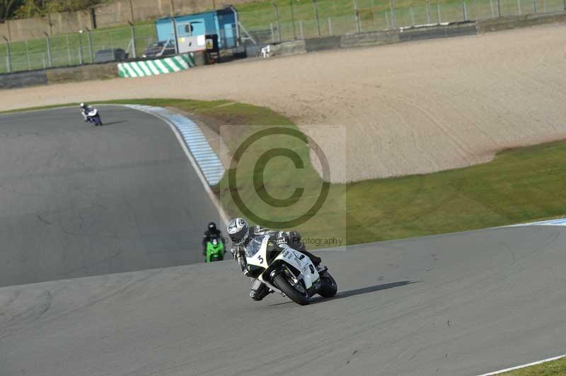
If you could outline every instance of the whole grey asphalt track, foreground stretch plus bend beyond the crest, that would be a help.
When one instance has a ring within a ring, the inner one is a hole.
[[[148,260],[160,249],[171,261],[185,240],[197,247],[200,221],[190,233],[179,207],[214,208],[171,130],[122,107],[104,113],[102,128],[74,109],[0,116],[4,284],[60,278],[109,252],[105,242],[126,270],[158,266]],[[551,358],[566,348],[556,224],[317,251],[339,293],[306,307],[253,302],[232,260],[5,286],[0,375],[475,376]],[[178,248],[154,241],[165,230]],[[84,270],[115,271],[104,255]]]

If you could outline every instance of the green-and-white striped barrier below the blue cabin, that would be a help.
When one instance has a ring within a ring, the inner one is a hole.
[[[185,71],[195,66],[192,54],[181,54],[163,59],[132,61],[118,64],[120,77],[144,77]]]

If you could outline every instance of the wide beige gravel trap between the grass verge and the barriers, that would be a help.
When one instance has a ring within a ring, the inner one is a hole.
[[[334,182],[461,168],[566,139],[566,25],[0,91],[0,110],[123,98],[271,107],[323,148]],[[344,126],[343,131],[334,127]],[[333,160],[347,148],[347,161]]]

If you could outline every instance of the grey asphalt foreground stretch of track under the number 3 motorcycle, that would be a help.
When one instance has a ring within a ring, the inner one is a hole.
[[[480,375],[566,348],[566,228],[318,252],[337,298],[248,298],[236,264],[0,288],[0,374]]]

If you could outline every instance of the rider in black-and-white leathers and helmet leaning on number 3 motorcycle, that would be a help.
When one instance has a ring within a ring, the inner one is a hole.
[[[233,247],[230,249],[232,252],[234,259],[238,261],[243,274],[248,276],[248,263],[246,262],[246,254],[244,251],[248,246],[249,242],[257,236],[260,235],[269,235],[273,240],[277,242],[285,242],[289,247],[295,249],[306,255],[316,269],[320,270],[320,262],[322,261],[320,257],[316,257],[311,252],[306,250],[304,243],[301,241],[301,234],[297,233],[296,231],[277,231],[277,230],[270,230],[268,228],[256,225],[253,228],[250,228],[248,222],[243,218],[234,218],[228,224],[228,235],[230,240],[232,240]],[[262,283],[262,281],[258,279],[253,279],[252,286],[250,288],[250,298],[253,300],[259,301],[265,298],[267,295],[272,293],[273,291]]]

